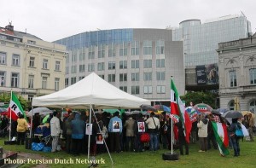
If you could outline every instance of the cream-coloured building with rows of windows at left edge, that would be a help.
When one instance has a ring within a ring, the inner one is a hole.
[[[0,92],[32,101],[64,88],[66,47],[49,43],[14,26],[0,27]]]

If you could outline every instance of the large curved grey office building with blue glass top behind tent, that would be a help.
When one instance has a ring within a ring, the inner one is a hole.
[[[99,30],[55,43],[66,45],[69,53],[66,87],[96,72],[132,95],[166,101],[172,76],[180,95],[184,94],[183,42],[172,41],[172,30]]]

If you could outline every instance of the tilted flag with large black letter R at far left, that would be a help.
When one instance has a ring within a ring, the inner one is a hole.
[[[20,105],[19,99],[15,96],[13,92],[11,92],[11,100],[9,101],[9,109],[7,115],[9,116],[9,118],[16,121],[17,119],[19,119],[19,114],[24,115],[24,119],[26,119],[26,114],[24,113],[23,108]]]

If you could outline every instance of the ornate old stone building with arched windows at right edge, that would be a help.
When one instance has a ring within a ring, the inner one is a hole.
[[[220,107],[256,113],[256,34],[218,43]]]

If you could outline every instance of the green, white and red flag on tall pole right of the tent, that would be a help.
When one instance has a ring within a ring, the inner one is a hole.
[[[189,114],[185,113],[185,106],[183,101],[180,99],[176,86],[171,79],[171,113],[179,116],[184,128],[184,136],[186,142],[189,143],[189,135],[192,128],[192,123],[189,119]]]

